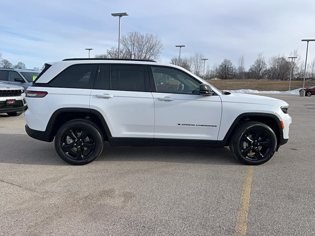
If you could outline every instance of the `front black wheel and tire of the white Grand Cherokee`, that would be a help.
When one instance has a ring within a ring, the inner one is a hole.
[[[277,137],[273,130],[256,121],[240,125],[230,139],[232,154],[247,165],[261,165],[267,162],[274,155],[276,148]]]

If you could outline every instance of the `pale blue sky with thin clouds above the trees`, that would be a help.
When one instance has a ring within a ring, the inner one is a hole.
[[[315,1],[6,1],[0,0],[0,52],[13,64],[27,68],[72,57],[87,57],[118,44],[118,18],[122,34],[130,31],[158,34],[164,50],[162,62],[178,55],[202,52],[209,64],[240,55],[245,66],[263,52],[269,58],[295,48],[305,59],[306,43],[315,38]],[[309,59],[315,57],[310,43]],[[309,60],[308,60],[309,62]]]

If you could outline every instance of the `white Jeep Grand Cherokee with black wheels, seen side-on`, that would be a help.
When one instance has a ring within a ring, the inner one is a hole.
[[[26,132],[73,165],[112,146],[230,146],[243,163],[268,161],[289,138],[282,100],[221,92],[191,72],[145,60],[47,63],[26,91]],[[159,85],[167,81],[169,90]]]

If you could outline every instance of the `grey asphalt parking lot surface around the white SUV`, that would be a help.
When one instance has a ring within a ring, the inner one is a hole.
[[[0,114],[0,235],[314,235],[315,96],[289,142],[245,166],[228,148],[110,147],[86,166]]]

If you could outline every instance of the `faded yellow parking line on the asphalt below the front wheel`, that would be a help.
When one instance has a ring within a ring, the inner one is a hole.
[[[250,187],[253,179],[253,166],[247,166],[241,201],[236,216],[235,236],[245,236],[247,229],[247,216],[249,210]]]

